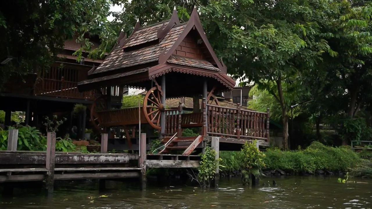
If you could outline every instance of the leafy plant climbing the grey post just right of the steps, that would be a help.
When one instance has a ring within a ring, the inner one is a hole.
[[[217,152],[211,147],[205,147],[205,152],[198,167],[198,181],[203,187],[209,187],[212,180],[214,180],[215,171],[219,163],[219,159],[216,160],[216,154]]]

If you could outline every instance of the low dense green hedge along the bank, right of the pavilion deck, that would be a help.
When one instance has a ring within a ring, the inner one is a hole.
[[[314,172],[318,169],[346,171],[360,161],[350,147],[327,147],[320,142],[312,142],[305,150],[281,151],[268,149],[264,163],[269,169],[288,172]]]

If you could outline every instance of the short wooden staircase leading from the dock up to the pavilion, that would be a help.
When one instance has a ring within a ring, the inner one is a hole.
[[[171,140],[171,142],[169,142]],[[169,154],[173,150],[183,151],[182,155],[190,155],[196,147],[203,141],[203,136],[186,136],[186,137],[171,137],[164,138],[162,143],[166,144],[165,149],[158,154]],[[169,142],[167,144],[167,142]]]

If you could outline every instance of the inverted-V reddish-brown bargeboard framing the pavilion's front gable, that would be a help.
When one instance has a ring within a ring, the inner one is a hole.
[[[217,64],[217,67],[219,70],[221,70],[222,73],[227,73],[227,68],[225,65],[223,65],[217,58],[216,54],[214,53],[211,44],[208,41],[208,38],[206,37],[202,23],[200,22],[198,11],[196,10],[196,7],[194,7],[190,19],[187,22],[186,28],[183,30],[181,35],[178,37],[177,41],[174,42],[174,44],[171,46],[171,48],[167,51],[164,49],[160,55],[159,55],[159,64],[164,64],[168,58],[173,54],[174,50],[181,44],[183,39],[187,36],[187,34],[190,32],[191,29],[193,29],[195,26],[195,29],[198,31],[200,37],[202,38],[206,48],[208,49],[209,53],[212,56],[213,61]]]

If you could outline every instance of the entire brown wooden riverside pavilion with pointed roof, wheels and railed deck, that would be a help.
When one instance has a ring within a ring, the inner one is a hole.
[[[147,93],[138,107],[112,109],[111,94],[100,92],[111,86],[135,87]],[[102,64],[93,67],[88,78],[77,85],[81,92],[98,92],[91,117],[101,132],[124,127],[132,148],[131,139],[139,138],[141,131],[159,130],[166,143],[160,152],[184,150],[184,155],[204,147],[203,141],[210,136],[219,137],[222,143],[259,139],[260,145],[267,145],[269,111],[218,106],[214,93],[230,91],[234,86],[235,81],[227,76],[226,66],[209,44],[195,8],[184,23],[179,22],[176,10],[170,20],[154,25],[141,27],[137,22],[131,35],[127,38],[122,32]],[[166,108],[166,98],[196,95],[203,98],[201,112],[184,113],[182,102],[176,109]],[[201,130],[199,136],[182,137],[183,129],[196,127]]]

